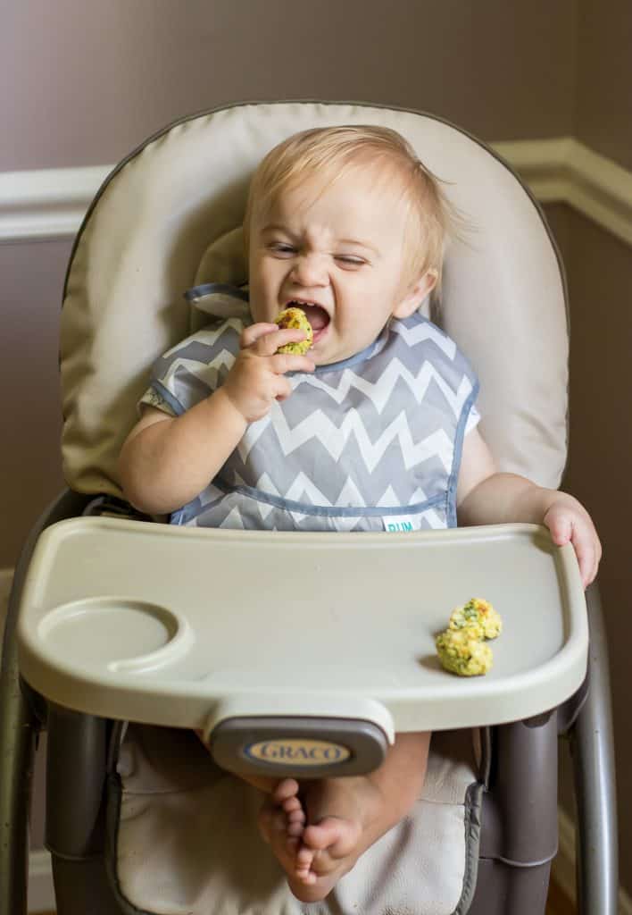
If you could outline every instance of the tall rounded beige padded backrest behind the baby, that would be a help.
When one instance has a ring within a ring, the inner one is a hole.
[[[246,281],[249,179],[315,126],[399,131],[472,230],[445,258],[432,317],[477,371],[498,467],[556,487],[566,459],[568,327],[541,210],[487,146],[432,115],[367,104],[264,102],[186,118],[114,169],[78,234],[61,318],[63,463],[73,490],[121,495],[116,461],[151,364],[190,332],[185,290]]]

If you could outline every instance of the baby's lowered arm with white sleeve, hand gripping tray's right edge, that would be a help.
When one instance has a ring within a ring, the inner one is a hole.
[[[601,544],[584,506],[566,492],[548,490],[516,474],[498,473],[477,429],[464,443],[456,503],[459,524],[546,525],[554,544],[573,544],[584,587],[595,578]]]

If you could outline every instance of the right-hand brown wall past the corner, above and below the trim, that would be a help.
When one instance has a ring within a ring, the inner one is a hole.
[[[579,0],[575,135],[632,169],[632,5]],[[599,584],[615,717],[620,878],[632,891],[632,735],[627,705],[632,640],[632,248],[570,211],[572,302],[569,489],[592,511],[604,544]],[[567,789],[564,788],[564,797]]]

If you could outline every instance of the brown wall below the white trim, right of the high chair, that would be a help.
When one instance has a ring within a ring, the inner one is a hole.
[[[571,451],[567,486],[595,518],[604,544],[599,587],[610,650],[616,732],[622,880],[632,888],[632,250],[574,212],[569,275],[573,302]]]

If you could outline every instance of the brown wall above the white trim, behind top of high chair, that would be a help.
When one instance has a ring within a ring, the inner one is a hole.
[[[571,131],[574,0],[1,7],[0,171],[115,162],[176,117],[252,99],[386,102],[495,140]]]

